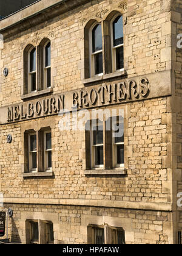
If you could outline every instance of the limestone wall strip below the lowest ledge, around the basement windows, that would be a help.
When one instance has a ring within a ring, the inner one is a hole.
[[[26,243],[26,219],[53,222],[55,243],[87,243],[87,226],[108,224],[123,227],[126,244],[168,244],[172,241],[172,214],[167,212],[124,210],[121,208],[78,207],[64,205],[5,204],[15,210],[9,220],[11,241]]]

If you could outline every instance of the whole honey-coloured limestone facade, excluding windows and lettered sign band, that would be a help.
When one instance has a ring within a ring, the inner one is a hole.
[[[55,243],[86,243],[90,215],[99,224],[105,217],[108,222],[110,217],[116,218],[116,223],[121,221],[121,227],[126,225],[127,243],[176,241],[177,227],[174,229],[173,225],[178,218],[181,228],[181,209],[178,215],[172,214],[171,204],[175,205],[177,190],[182,189],[181,49],[176,51],[175,46],[181,24],[179,9],[170,12],[171,4],[166,0],[139,0],[137,4],[134,0],[88,1],[5,38],[0,68],[7,67],[9,74],[0,74],[0,107],[22,102],[23,52],[27,44],[38,46],[43,38],[49,38],[52,45],[53,94],[83,88],[84,27],[91,19],[106,20],[113,10],[124,16],[126,76],[147,76],[172,69],[171,81],[166,79],[167,88],[172,82],[172,97],[108,107],[124,110],[125,175],[85,175],[85,132],[60,131],[60,116],[0,126],[0,188],[5,203],[9,203],[6,206],[15,211],[10,223],[13,240],[25,242],[23,212],[31,213],[29,218],[34,219],[47,219],[55,212]],[[180,1],[176,4],[179,8]],[[23,131],[30,126],[38,130],[43,123],[52,126],[54,177],[23,177]],[[8,134],[12,134],[12,144],[7,144]]]

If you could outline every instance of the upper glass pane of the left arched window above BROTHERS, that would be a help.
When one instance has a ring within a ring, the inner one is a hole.
[[[92,30],[92,51],[103,49],[101,24],[97,24]]]

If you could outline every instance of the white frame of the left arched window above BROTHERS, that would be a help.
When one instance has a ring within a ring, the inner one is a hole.
[[[89,60],[90,60],[90,77],[97,77],[97,76],[103,76],[104,73],[100,73],[100,74],[95,74],[95,55],[102,53],[103,54],[103,49],[93,52],[93,44],[92,44],[92,30],[94,29],[94,27],[96,25],[98,25],[101,23],[94,23],[92,25],[92,27],[90,27],[90,31],[89,31]],[[103,36],[103,31],[102,31],[102,36]],[[103,70],[104,70],[104,66],[103,66]]]

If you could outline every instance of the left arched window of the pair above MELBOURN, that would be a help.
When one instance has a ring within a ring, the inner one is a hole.
[[[36,91],[36,48],[29,52],[29,93]]]

